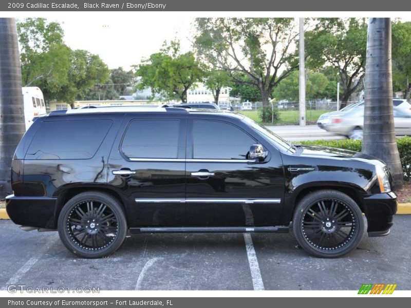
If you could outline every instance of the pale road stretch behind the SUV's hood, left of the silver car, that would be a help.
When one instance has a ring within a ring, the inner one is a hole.
[[[278,136],[289,141],[346,139],[344,136],[327,132],[316,125],[285,125],[266,127],[275,132]]]

